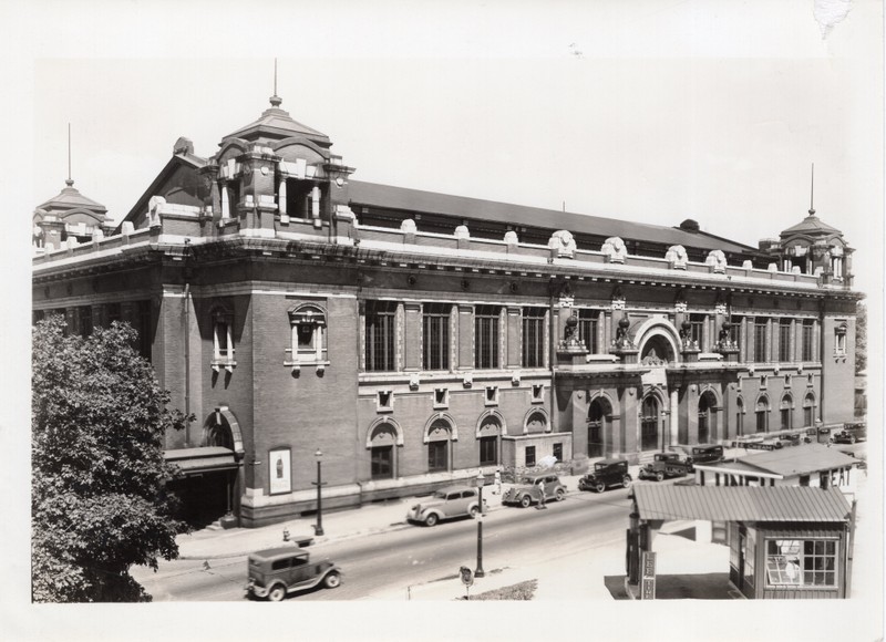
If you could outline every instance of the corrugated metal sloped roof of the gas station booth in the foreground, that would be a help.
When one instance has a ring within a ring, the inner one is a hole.
[[[633,486],[640,519],[847,521],[838,488],[810,486]]]

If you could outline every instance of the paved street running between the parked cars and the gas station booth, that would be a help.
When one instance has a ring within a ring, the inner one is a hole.
[[[624,541],[629,501],[627,490],[602,495],[571,491],[546,510],[503,507],[484,519],[486,572],[494,569],[555,560],[598,546]],[[312,590],[299,600],[354,600],[373,593],[453,576],[462,565],[476,562],[476,522],[462,519],[433,528],[410,526],[389,532],[310,547],[313,556],[329,557],[344,570],[336,590]],[[156,601],[244,600],[246,558],[162,562],[157,573],[133,569],[133,576]]]

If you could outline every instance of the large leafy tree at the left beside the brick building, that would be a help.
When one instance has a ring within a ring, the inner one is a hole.
[[[114,322],[65,336],[51,317],[33,331],[31,401],[31,572],[37,602],[150,601],[128,573],[178,556],[165,483],[167,429],[186,417],[167,410],[136,332]]]

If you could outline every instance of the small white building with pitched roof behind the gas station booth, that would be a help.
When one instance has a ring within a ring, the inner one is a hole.
[[[699,486],[812,486],[855,493],[858,459],[820,444],[760,451],[696,465]]]

